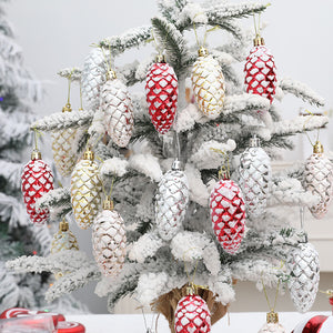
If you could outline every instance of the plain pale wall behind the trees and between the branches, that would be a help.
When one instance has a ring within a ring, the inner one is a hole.
[[[7,12],[14,27],[17,41],[23,48],[27,67],[44,82],[46,98],[36,105],[36,111],[50,114],[59,112],[65,102],[67,84],[57,77],[57,71],[65,67],[81,67],[91,43],[129,28],[149,24],[150,18],[157,13],[157,4],[153,0],[16,0],[8,4]],[[275,56],[279,75],[290,75],[319,91],[326,99],[323,110],[333,105],[332,13],[333,1],[274,0],[263,14],[263,21],[269,23],[263,36]],[[243,21],[252,26],[251,18]],[[212,39],[219,41],[219,33],[214,32]],[[117,59],[117,64],[144,59],[151,52],[151,48],[127,52]],[[78,89],[73,90],[72,105],[79,107]],[[286,98],[283,107],[285,118],[297,115],[300,107],[315,111],[293,98]],[[332,125],[329,129],[332,130]],[[326,149],[333,150],[333,138],[329,130],[322,131],[321,137]],[[304,159],[311,151],[304,138],[297,137],[295,143],[296,151],[285,157],[289,161]],[[319,221],[311,223],[310,229],[314,233],[321,232],[324,235],[329,229],[333,235],[332,219],[331,223],[329,220],[324,224]],[[89,231],[72,229],[81,248],[85,248],[89,253]],[[326,241],[324,250],[332,251],[332,236]],[[323,274],[321,289],[332,287],[332,274]],[[266,310],[264,296],[258,294],[253,285],[239,283],[236,293],[238,301],[232,305],[232,311]],[[93,285],[77,294],[89,304],[92,312],[105,312],[107,301],[93,294]],[[280,303],[283,305],[278,306],[278,310],[293,310],[289,297]],[[323,296],[319,296],[316,309],[329,309]]]

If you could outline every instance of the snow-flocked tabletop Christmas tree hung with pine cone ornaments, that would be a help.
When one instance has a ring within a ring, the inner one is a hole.
[[[209,332],[205,302],[213,323],[234,300],[235,280],[259,286],[280,281],[297,310],[306,311],[317,291],[317,253],[306,232],[291,228],[274,208],[321,205],[323,211],[332,195],[332,165],[314,162],[325,167],[322,184],[311,165],[306,180],[303,165],[272,174],[271,159],[293,148],[291,135],[327,123],[319,115],[282,120],[279,101],[284,94],[316,107],[323,100],[305,84],[282,79],[259,28],[245,33],[238,24],[236,19],[258,14],[265,4],[173,0],[159,1],[159,8],[151,26],[105,38],[91,50],[81,72],[85,110],[54,113],[31,125],[85,131],[77,140],[81,161],[71,189],[50,191],[37,206],[50,209],[56,221],[65,215],[73,220],[73,212],[81,228],[92,225],[97,262],[67,250],[19,258],[8,266],[61,273],[48,300],[92,280],[99,281],[97,294],[108,295],[110,311],[120,297],[134,293],[142,305],[153,303],[165,314],[172,329],[176,312],[178,332],[186,325]],[[208,46],[206,34],[216,27],[229,39]],[[196,44],[189,31],[195,32]],[[149,42],[157,54],[117,67],[125,50]],[[234,64],[244,61],[244,73],[238,72]],[[79,80],[80,70],[75,75]],[[145,93],[130,94],[128,87],[139,82],[145,82]],[[324,159],[321,150],[315,154],[315,161]],[[276,270],[281,260],[286,264]],[[194,271],[201,287],[186,290],[188,272]],[[180,320],[191,304],[206,319]]]

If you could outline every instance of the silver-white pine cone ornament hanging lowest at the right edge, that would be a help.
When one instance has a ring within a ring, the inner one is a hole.
[[[315,301],[320,282],[319,254],[310,243],[300,243],[286,259],[290,272],[287,287],[299,312],[306,312]]]

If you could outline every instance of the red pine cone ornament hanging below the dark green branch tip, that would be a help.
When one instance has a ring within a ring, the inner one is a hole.
[[[157,57],[157,62],[147,73],[145,93],[151,121],[157,131],[165,134],[175,117],[178,79],[163,56]]]

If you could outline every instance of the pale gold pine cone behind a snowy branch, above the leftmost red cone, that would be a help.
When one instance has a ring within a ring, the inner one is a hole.
[[[62,112],[71,112],[71,104],[67,103]],[[75,141],[77,130],[65,129],[52,132],[52,151],[56,167],[62,176],[71,174],[77,157],[73,153],[73,143]]]

